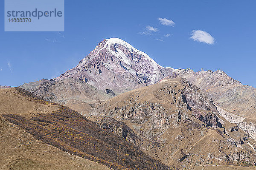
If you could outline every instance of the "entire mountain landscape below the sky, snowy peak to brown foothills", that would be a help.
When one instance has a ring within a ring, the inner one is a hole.
[[[0,88],[6,169],[256,168],[256,88],[220,70],[163,67],[119,38],[59,77]],[[37,147],[56,156],[23,154]]]

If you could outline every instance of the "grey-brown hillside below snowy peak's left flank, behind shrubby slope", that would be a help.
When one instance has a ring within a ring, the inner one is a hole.
[[[20,88],[49,102],[65,105],[81,114],[89,112],[95,105],[112,97],[84,81],[73,78],[60,81],[41,79],[25,83]]]

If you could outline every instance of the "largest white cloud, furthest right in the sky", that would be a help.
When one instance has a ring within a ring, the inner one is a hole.
[[[193,30],[190,38],[194,41],[204,42],[207,44],[214,44],[215,42],[215,39],[208,32],[201,30]]]

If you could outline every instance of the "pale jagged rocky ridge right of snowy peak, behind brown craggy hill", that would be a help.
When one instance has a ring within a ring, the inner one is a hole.
[[[169,76],[160,82],[177,77],[184,77],[193,85],[198,86],[221,108],[240,116],[256,114],[256,88],[242,85],[241,82],[229,77],[224,71],[204,71],[202,69],[194,72],[191,69],[179,69],[169,73]]]

